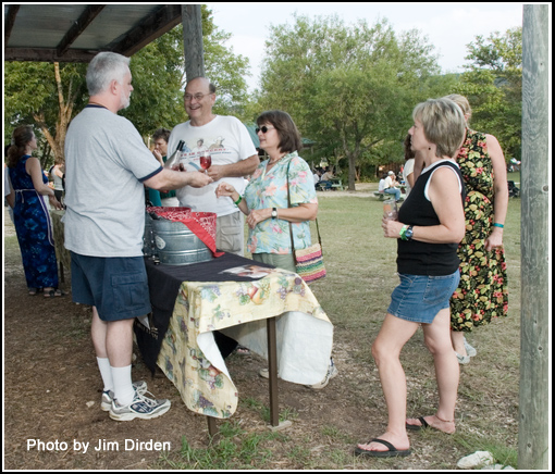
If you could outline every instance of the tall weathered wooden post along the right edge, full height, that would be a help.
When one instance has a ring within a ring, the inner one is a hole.
[[[527,471],[550,461],[548,28],[548,5],[523,7],[518,469]]]

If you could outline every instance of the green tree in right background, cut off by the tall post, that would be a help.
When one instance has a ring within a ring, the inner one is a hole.
[[[472,128],[494,135],[506,160],[520,159],[522,122],[522,28],[477,36],[467,45],[471,61],[458,92],[472,107]]]

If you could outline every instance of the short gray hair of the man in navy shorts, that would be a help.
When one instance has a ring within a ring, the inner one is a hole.
[[[125,74],[130,72],[131,58],[115,52],[99,52],[87,68],[87,88],[89,96],[103,92],[112,80],[123,84]]]

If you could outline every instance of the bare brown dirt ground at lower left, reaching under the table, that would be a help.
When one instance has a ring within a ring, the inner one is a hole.
[[[151,421],[116,423],[110,420],[99,407],[102,385],[88,337],[90,309],[73,303],[71,295],[55,299],[44,298],[41,294],[27,296],[22,269],[5,270],[5,469],[148,469],[159,458],[159,452],[145,449],[122,452],[123,448],[133,447],[132,441],[152,439],[170,442],[171,450],[175,451],[181,447],[182,436],[186,436],[192,446],[207,446],[205,417],[185,407],[163,374],[152,379],[140,362],[134,365],[134,379],[147,381],[150,391],[169,398],[172,401],[170,412]],[[335,352],[341,367],[348,356],[341,346],[336,346]],[[256,356],[234,354],[229,360],[239,397],[256,397],[268,406],[268,383],[257,375],[261,366],[263,361]],[[289,428],[291,432],[303,435],[318,431],[318,426],[325,423],[324,419],[333,420],[334,424],[340,422],[345,429],[365,431],[366,422],[348,407],[353,403],[344,392],[341,378],[332,381],[325,391],[311,391],[280,381],[281,408],[293,408],[303,419],[303,423]],[[261,417],[243,410],[240,404],[234,417],[240,419],[244,426],[266,429]],[[114,441],[119,451],[112,450]],[[85,442],[89,444],[87,453],[77,449],[78,444]],[[101,449],[96,451],[94,447]]]

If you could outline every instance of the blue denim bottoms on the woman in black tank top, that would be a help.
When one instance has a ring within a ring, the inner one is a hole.
[[[442,276],[399,273],[399,278],[400,284],[393,290],[387,312],[405,321],[430,324],[441,310],[449,308],[460,273],[458,269]]]

